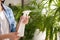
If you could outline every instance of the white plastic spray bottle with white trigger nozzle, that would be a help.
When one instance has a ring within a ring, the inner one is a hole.
[[[23,16],[24,17],[28,16],[30,12],[31,12],[30,10],[23,11]],[[18,36],[23,37],[24,31],[25,31],[25,24],[21,22],[18,29],[18,33],[19,33]]]

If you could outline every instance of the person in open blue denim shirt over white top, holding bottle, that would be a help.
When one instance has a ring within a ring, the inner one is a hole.
[[[4,0],[0,0],[0,40],[18,40],[20,38],[17,36],[19,24],[20,22],[27,24],[29,16],[22,16],[16,26],[12,10],[5,6],[2,1]]]

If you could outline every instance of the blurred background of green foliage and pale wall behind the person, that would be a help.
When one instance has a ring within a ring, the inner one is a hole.
[[[31,10],[25,36],[20,40],[60,40],[60,0],[6,0],[17,22],[22,11]]]

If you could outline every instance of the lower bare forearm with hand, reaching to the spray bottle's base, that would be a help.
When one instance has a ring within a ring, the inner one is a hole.
[[[17,34],[18,34],[17,32],[12,32],[9,34],[0,35],[0,40],[7,39],[7,38],[11,40],[15,40],[18,38]]]

